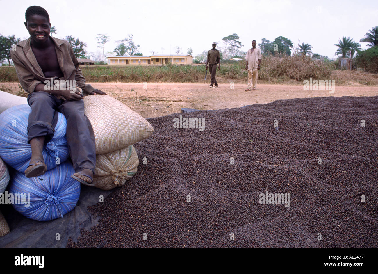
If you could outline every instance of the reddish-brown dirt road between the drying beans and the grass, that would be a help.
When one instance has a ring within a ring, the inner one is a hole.
[[[211,89],[208,84],[192,83],[90,83],[121,100],[144,118],[159,117],[181,112],[181,108],[217,110],[264,104],[279,99],[310,98],[319,96],[376,96],[378,87],[352,84],[335,86],[328,90],[304,90],[303,85],[277,85],[257,83],[257,90],[244,91],[246,84],[219,84]],[[20,90],[18,83],[0,83],[12,93]]]

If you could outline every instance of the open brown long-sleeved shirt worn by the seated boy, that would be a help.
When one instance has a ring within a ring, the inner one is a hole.
[[[50,38],[54,41],[59,67],[64,75],[64,80],[75,80],[77,87],[83,90],[84,96],[90,94],[95,88],[91,85],[85,84],[85,78],[81,73],[79,62],[76,59],[70,43],[55,37]],[[42,69],[38,65],[37,59],[31,50],[30,43],[31,37],[12,47],[11,58],[22,88],[28,93],[33,93],[38,84],[45,84],[45,80],[50,81],[51,78],[46,78],[43,74]],[[58,99],[64,99],[63,96],[55,96]]]

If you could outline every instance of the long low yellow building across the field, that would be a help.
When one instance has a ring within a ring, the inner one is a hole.
[[[108,65],[163,65],[170,61],[173,64],[191,65],[193,56],[190,54],[175,55],[128,55],[128,56],[109,56]]]

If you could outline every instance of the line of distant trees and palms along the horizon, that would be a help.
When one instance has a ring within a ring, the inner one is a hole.
[[[55,26],[51,26],[50,28],[51,36],[57,33],[57,29]],[[225,36],[222,38],[222,44],[217,42],[218,50],[220,50],[221,59],[229,59],[231,57],[234,58],[243,58],[246,55],[246,52],[241,51],[242,43],[239,41],[240,37],[234,33],[229,36]],[[0,61],[8,60],[8,64],[11,65],[11,56],[10,51],[11,47],[14,44],[20,42],[20,38],[15,38],[14,35],[12,36],[2,36],[0,35]],[[96,36],[96,40],[98,41],[98,48],[102,49],[102,56],[95,56],[94,53],[87,53],[85,48],[87,46],[86,43],[79,40],[79,38],[73,36],[66,36],[65,40],[67,40],[73,48],[74,54],[76,58],[87,58],[87,59],[96,59],[96,61],[103,61],[105,60],[105,44],[110,41],[110,37],[107,34],[98,34]],[[134,43],[133,36],[128,34],[127,37],[124,39],[116,41],[118,45],[113,51],[107,51],[107,56],[109,55],[117,55],[117,56],[124,56],[124,55],[143,55],[139,53],[138,49],[140,45]],[[378,26],[373,27],[369,30],[364,36],[361,38],[359,42],[366,42],[368,47],[374,47],[378,45]],[[355,41],[353,41],[350,37],[342,36],[339,39],[337,44],[334,44],[338,47],[335,55],[341,55],[342,58],[350,57],[353,58],[356,52],[361,52],[361,45]],[[276,37],[273,41],[269,41],[265,38],[261,39],[261,43],[259,43],[259,48],[263,55],[288,55],[292,54],[303,54],[303,55],[310,55],[312,54],[312,58],[320,59],[321,57],[327,59],[327,56],[321,56],[320,54],[312,52],[312,46],[308,43],[302,43],[298,41],[298,44],[295,48],[293,48],[293,42],[290,39],[279,36]],[[164,51],[164,48],[161,48],[161,51]],[[152,55],[156,53],[156,51],[150,51]],[[163,52],[161,52],[163,53]],[[182,54],[182,48],[180,46],[175,47],[176,54]],[[200,61],[205,61],[207,58],[208,50],[204,50],[202,53],[195,56],[194,62],[199,63]],[[193,54],[193,48],[187,49],[187,54]]]

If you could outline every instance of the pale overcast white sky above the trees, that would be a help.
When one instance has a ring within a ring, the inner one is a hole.
[[[356,42],[378,25],[377,0],[220,0],[220,1],[119,1],[119,0],[0,0],[0,34],[27,39],[25,11],[42,6],[58,30],[54,36],[71,35],[87,43],[87,52],[96,52],[98,33],[110,36],[105,52],[113,51],[116,41],[133,35],[141,45],[139,52],[149,55],[183,53],[193,48],[194,55],[211,48],[225,36],[236,33],[251,48],[253,39],[270,41],[278,36],[313,46],[313,53],[335,57],[342,36]],[[220,44],[219,46],[222,46]],[[366,43],[361,43],[366,48]],[[102,50],[101,50],[102,51]]]

